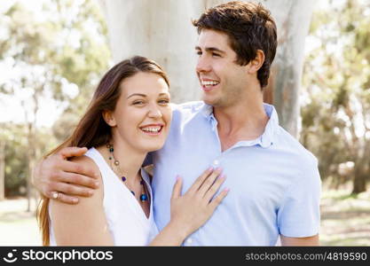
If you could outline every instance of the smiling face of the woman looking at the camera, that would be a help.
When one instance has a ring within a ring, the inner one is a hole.
[[[140,152],[161,149],[172,117],[169,86],[159,74],[139,72],[120,87],[121,96],[108,122],[113,136]]]

